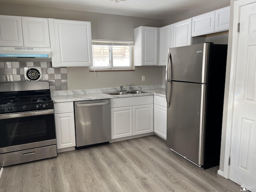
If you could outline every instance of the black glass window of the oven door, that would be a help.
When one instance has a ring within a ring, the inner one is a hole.
[[[0,147],[56,139],[54,114],[0,120]]]

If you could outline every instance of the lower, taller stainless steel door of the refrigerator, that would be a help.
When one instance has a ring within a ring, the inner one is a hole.
[[[170,84],[171,96],[166,144],[178,154],[203,165],[207,84],[167,84]]]

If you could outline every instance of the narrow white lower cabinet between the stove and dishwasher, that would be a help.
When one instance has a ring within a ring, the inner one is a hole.
[[[57,149],[76,146],[73,102],[54,103]]]

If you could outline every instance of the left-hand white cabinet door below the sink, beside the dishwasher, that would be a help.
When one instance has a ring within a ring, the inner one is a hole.
[[[133,135],[132,110],[131,106],[111,109],[111,139]]]

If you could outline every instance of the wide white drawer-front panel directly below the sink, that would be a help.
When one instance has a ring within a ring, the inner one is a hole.
[[[137,96],[111,99],[111,108],[153,104],[153,96]]]

